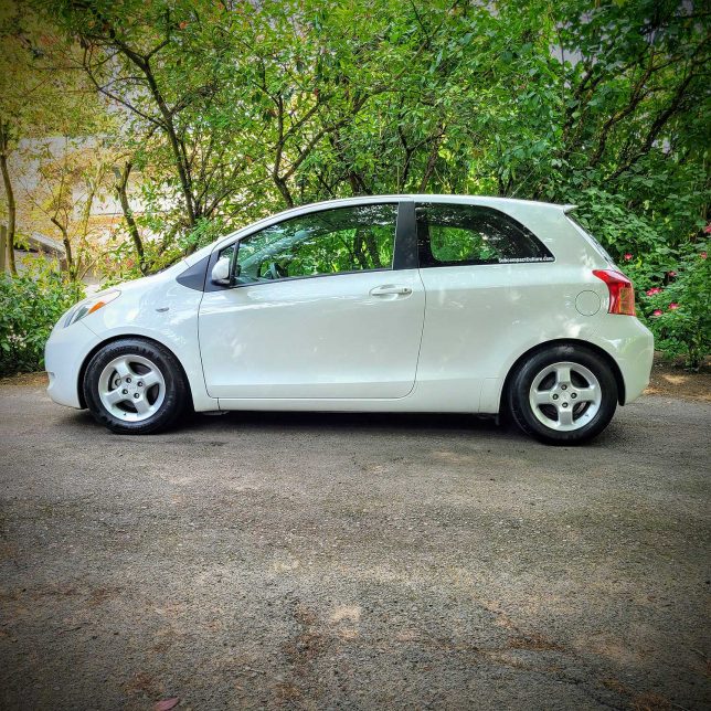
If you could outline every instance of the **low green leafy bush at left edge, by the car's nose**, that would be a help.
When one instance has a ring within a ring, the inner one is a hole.
[[[19,276],[0,275],[0,375],[41,370],[44,344],[84,286],[34,262]]]

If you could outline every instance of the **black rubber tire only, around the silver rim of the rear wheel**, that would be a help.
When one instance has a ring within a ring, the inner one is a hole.
[[[548,365],[570,361],[584,365],[599,382],[602,401],[595,416],[580,429],[558,432],[540,422],[531,408],[529,393],[533,379]],[[617,407],[617,382],[609,365],[593,351],[579,346],[556,346],[540,351],[524,361],[509,388],[509,411],[528,434],[548,444],[581,444],[597,436],[612,420]]]

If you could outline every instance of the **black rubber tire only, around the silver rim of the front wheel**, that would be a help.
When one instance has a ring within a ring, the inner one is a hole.
[[[158,412],[148,420],[126,422],[113,415],[100,401],[98,382],[104,368],[120,355],[141,355],[158,368],[166,383],[166,394]],[[182,413],[185,385],[174,355],[158,343],[141,339],[121,339],[102,348],[89,361],[83,382],[84,399],[89,412],[100,424],[121,434],[150,434],[166,429]]]

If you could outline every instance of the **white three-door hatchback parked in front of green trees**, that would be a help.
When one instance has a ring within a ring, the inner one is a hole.
[[[147,434],[181,412],[510,413],[597,435],[649,380],[633,285],[571,205],[379,195],[288,210],[95,294],[46,344],[54,402]]]

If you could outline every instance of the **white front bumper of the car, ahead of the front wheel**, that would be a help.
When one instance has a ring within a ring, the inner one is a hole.
[[[47,394],[60,405],[82,407],[78,392],[79,370],[89,351],[99,342],[81,321],[68,328],[54,327],[44,348],[44,368],[50,384]]]

